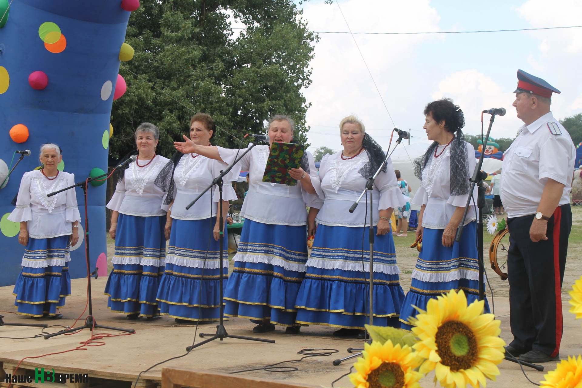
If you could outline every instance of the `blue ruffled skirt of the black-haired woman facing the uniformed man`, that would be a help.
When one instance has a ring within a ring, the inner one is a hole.
[[[410,330],[410,317],[415,317],[416,306],[427,309],[432,298],[450,290],[463,290],[467,303],[478,300],[479,265],[477,261],[477,223],[471,222],[463,229],[463,239],[452,247],[442,245],[442,229],[423,229],[423,245],[416,268],[412,273],[410,291],[406,294],[400,314],[401,327]],[[489,304],[485,298],[485,312]]]

